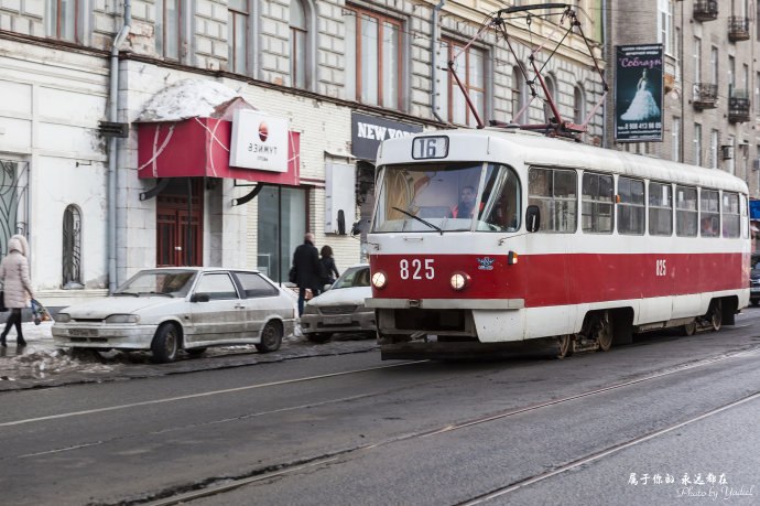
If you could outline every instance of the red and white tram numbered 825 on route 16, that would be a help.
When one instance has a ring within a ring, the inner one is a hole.
[[[749,301],[747,184],[504,129],[384,141],[368,235],[383,358],[718,330]],[[474,194],[473,197],[469,194]]]

